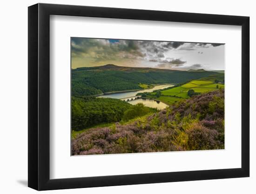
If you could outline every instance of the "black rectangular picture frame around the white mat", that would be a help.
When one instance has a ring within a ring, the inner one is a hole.
[[[51,180],[50,15],[242,26],[242,167]],[[41,3],[28,7],[28,187],[52,190],[236,177],[249,177],[249,17]]]

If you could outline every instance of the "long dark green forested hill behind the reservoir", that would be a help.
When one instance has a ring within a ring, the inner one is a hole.
[[[72,95],[90,96],[106,92],[141,89],[140,83],[164,84],[208,77],[209,71],[178,71],[148,67],[121,67],[107,64],[72,69]]]

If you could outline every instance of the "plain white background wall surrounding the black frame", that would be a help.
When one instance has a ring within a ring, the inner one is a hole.
[[[251,99],[256,98],[256,12],[252,0],[41,0],[41,3],[122,7],[250,16]],[[0,193],[36,193],[27,188],[27,7],[36,0],[2,1],[0,8]],[[254,87],[254,88],[253,88]],[[236,105],[234,105],[236,106]],[[256,103],[251,100],[250,178],[47,191],[59,194],[253,194],[256,193]]]

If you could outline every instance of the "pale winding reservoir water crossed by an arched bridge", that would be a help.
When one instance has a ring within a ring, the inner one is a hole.
[[[119,92],[119,93],[112,93],[112,94],[102,94],[98,97],[99,98],[129,99],[130,101],[128,101],[128,103],[130,103],[130,104],[135,105],[137,103],[143,103],[146,107],[152,107],[152,108],[157,108],[157,109],[161,110],[165,107],[168,107],[168,105],[166,105],[166,104],[164,104],[160,101],[149,100],[149,99],[131,100],[132,98],[130,98],[130,97],[134,97],[134,96],[136,96],[136,94],[141,93],[141,92],[153,92],[154,90],[164,89],[164,88],[172,87],[172,86],[174,86],[174,85],[164,84],[164,85],[155,86],[151,89],[138,90],[138,91],[128,91],[128,92]]]

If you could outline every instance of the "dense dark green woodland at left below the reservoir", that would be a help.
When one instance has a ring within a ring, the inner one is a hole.
[[[120,121],[132,105],[111,98],[72,97],[72,130]]]

